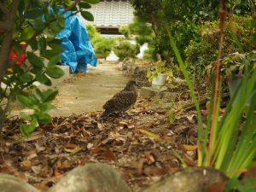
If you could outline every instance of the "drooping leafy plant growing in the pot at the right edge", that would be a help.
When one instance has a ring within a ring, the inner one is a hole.
[[[244,61],[247,59],[248,70],[251,73],[253,71],[253,65],[256,61],[256,52],[252,51],[251,53],[240,54],[238,52],[227,55],[219,62],[220,73],[224,77],[224,83],[227,82],[230,97],[233,96],[236,86],[240,83],[242,73],[245,67]],[[211,65],[208,65],[204,72],[205,81],[207,84],[211,83],[212,74],[215,73],[215,66],[217,61],[213,61]],[[237,96],[238,97],[238,96]],[[237,98],[236,98],[237,99]],[[236,99],[234,102],[236,102]],[[233,103],[234,104],[234,103]]]

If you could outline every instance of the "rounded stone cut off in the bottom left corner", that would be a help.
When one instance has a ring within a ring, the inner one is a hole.
[[[23,179],[8,174],[0,173],[1,192],[40,192]]]

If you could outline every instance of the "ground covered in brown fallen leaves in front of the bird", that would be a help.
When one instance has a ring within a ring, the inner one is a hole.
[[[172,148],[188,166],[196,166],[195,111],[183,111],[171,125],[169,111],[143,103],[139,101],[127,118],[113,113],[102,121],[97,119],[99,113],[71,114],[38,125],[28,139],[15,131],[1,141],[0,172],[46,191],[74,167],[102,162],[117,169],[131,191],[137,191],[183,167]],[[4,132],[20,120],[9,119]]]

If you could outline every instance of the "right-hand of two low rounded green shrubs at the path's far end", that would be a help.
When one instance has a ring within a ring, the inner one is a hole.
[[[119,57],[119,60],[124,60],[125,57],[136,58],[140,49],[137,44],[131,44],[127,41],[119,41],[119,45],[113,49],[115,55]]]

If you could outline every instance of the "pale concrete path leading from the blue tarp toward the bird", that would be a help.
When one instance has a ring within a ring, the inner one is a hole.
[[[119,64],[99,64],[90,67],[89,73],[70,74],[67,79],[55,86],[59,94],[52,104],[61,113],[51,110],[51,116],[67,116],[71,113],[102,111],[102,106],[116,92],[122,90],[129,81],[117,68]],[[22,109],[32,113],[29,109]],[[12,115],[19,114],[20,108],[14,108]]]

